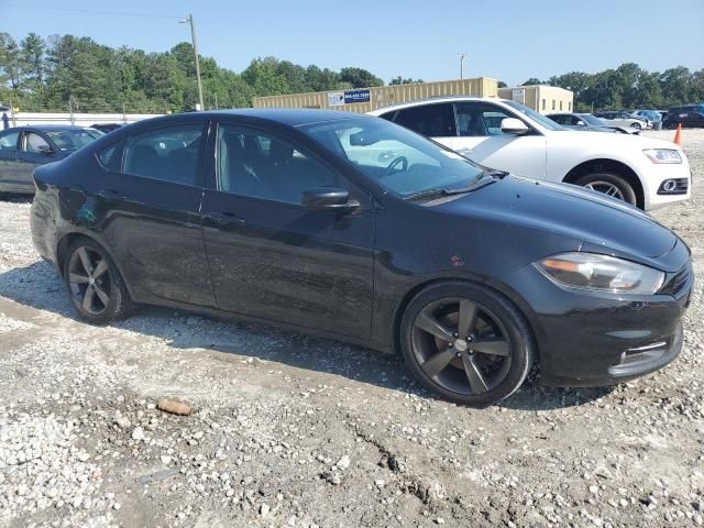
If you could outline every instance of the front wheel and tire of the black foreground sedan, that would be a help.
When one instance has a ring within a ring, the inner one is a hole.
[[[452,321],[457,321],[458,332],[462,331],[461,312],[465,305],[469,307],[465,312],[474,314],[468,320],[475,322],[470,323],[472,329],[466,339],[455,339],[450,344],[446,341],[455,336],[443,332],[452,329]],[[435,322],[440,322],[444,338],[437,337],[438,330],[426,330],[429,315],[431,319],[436,317]],[[464,344],[460,346],[462,341]],[[473,346],[484,350],[487,344],[501,344],[501,354],[498,349],[495,352],[473,350]],[[460,280],[430,285],[411,299],[400,323],[400,348],[408,369],[422,385],[444,399],[480,408],[514,394],[536,356],[532,332],[522,314],[492,289]],[[473,375],[468,362],[474,366]],[[444,366],[438,367],[438,364]],[[437,374],[429,372],[435,370]],[[475,385],[476,372],[483,382],[479,386]]]

